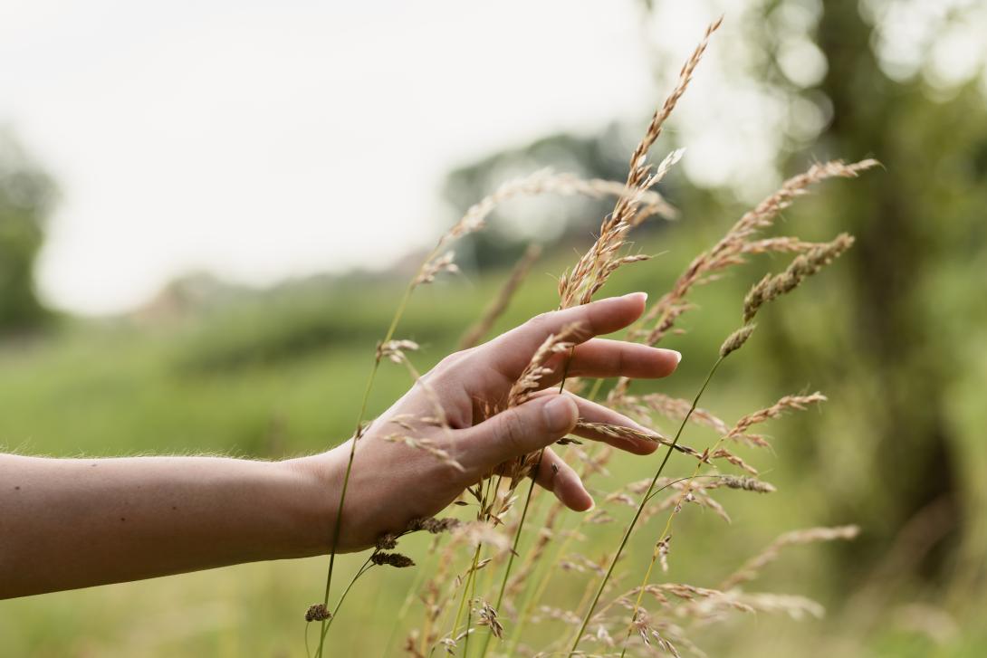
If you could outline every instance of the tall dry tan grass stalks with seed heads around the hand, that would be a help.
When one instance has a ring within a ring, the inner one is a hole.
[[[346,487],[352,469],[359,468],[358,461],[354,460],[355,445],[369,424],[364,417],[366,402],[383,361],[390,360],[407,367],[412,379],[420,383],[434,406],[434,417],[425,424],[440,429],[445,427],[441,400],[421,382],[408,356],[408,352],[416,350],[418,345],[395,337],[413,292],[442,272],[455,271],[454,256],[449,251],[451,244],[463,235],[479,230],[498,203],[518,194],[554,192],[599,196],[607,193],[617,196],[613,212],[604,218],[600,226],[598,238],[571,270],[560,276],[560,309],[589,303],[618,268],[645,260],[646,256],[631,252],[628,234],[647,216],[671,214],[670,206],[653,190],[653,186],[682,157],[682,151],[674,150],[657,167],[652,167],[648,163],[648,153],[661,136],[665,121],[686,92],[711,37],[720,25],[721,21],[717,21],[708,28],[700,44],[686,60],[673,91],[654,112],[645,136],[631,156],[625,183],[586,182],[550,172],[538,172],[527,179],[506,183],[470,208],[422,262],[378,345],[356,431],[350,439],[339,514],[333,529],[333,550],[325,596],[322,604],[310,608],[307,617],[310,621],[322,623],[318,656],[325,651],[330,624],[340,614],[342,599],[355,580],[375,565],[408,566],[411,562],[410,558],[400,553],[388,552],[395,548],[400,534],[382,538],[364,566],[356,572],[335,608],[329,607],[336,547],[345,524],[342,510]],[[625,656],[628,653],[658,650],[675,656],[680,651],[703,655],[691,639],[689,629],[693,625],[721,621],[732,613],[754,611],[784,612],[794,617],[819,614],[819,606],[807,599],[750,593],[743,586],[778,557],[782,548],[810,542],[849,540],[857,534],[853,526],[815,528],[786,534],[716,586],[653,581],[656,571],[668,572],[669,562],[674,557],[674,521],[691,506],[711,509],[728,519],[725,509],[714,497],[719,490],[732,489],[754,494],[770,494],[775,490],[771,483],[760,479],[758,471],[736,452],[737,447],[768,447],[767,439],[753,429],[784,412],[804,409],[825,400],[818,393],[787,396],[740,417],[732,425],[700,406],[705,392],[715,384],[716,375],[726,360],[753,336],[756,327],[753,321],[759,310],[794,291],[808,277],[818,273],[853,245],[853,238],[847,235],[837,236],[826,243],[812,243],[794,236],[766,236],[765,233],[774,226],[779,214],[797,197],[807,193],[811,185],[831,178],[855,178],[875,164],[873,160],[851,165],[839,161],[816,164],[786,181],[776,192],[741,216],[709,250],[693,258],[672,282],[669,291],[656,296],[656,301],[647,308],[642,320],[628,332],[629,339],[656,345],[671,332],[680,330],[677,322],[693,308],[690,293],[697,286],[710,283],[726,270],[747,263],[751,256],[794,255],[784,270],[766,274],[738,304],[739,327],[728,332],[722,341],[716,355],[711,358],[712,363],[702,386],[691,400],[661,394],[635,395],[631,391],[632,381],[627,378],[618,379],[606,391],[602,380],[591,384],[587,397],[597,398],[605,393],[604,399],[609,406],[636,417],[645,426],[653,426],[658,417],[670,418],[677,423],[674,435],[666,438],[657,432],[588,423],[583,419],[579,421],[581,429],[592,429],[598,434],[646,438],[659,443],[664,450],[656,459],[653,475],[643,481],[625,483],[618,490],[609,492],[599,509],[580,516],[573,527],[565,530],[569,515],[565,514],[561,503],[540,496],[534,486],[534,474],[542,463],[543,453],[539,451],[500,465],[468,487],[457,502],[464,507],[475,506],[476,511],[471,519],[418,520],[407,530],[435,534],[432,551],[438,553],[434,570],[422,574],[416,591],[409,593],[396,621],[403,626],[411,626],[403,646],[407,654],[419,658],[436,653],[483,657],[491,651],[494,655],[511,656],[536,653],[584,655],[587,652]],[[476,344],[490,331],[534,257],[537,255],[529,253],[519,264],[501,296],[494,300],[477,326],[464,336],[464,346]],[[486,415],[489,417],[504,408],[525,402],[541,389],[543,377],[550,372],[546,362],[556,355],[571,353],[573,333],[574,328],[566,328],[548,336],[531,355],[528,367],[511,388],[506,402],[489,405]],[[570,391],[582,391],[590,385],[564,378],[561,386]],[[695,441],[687,440],[687,434],[691,435],[693,430],[700,428],[714,432],[714,438],[704,448],[697,447],[701,444]],[[403,440],[409,449],[425,450],[439,460],[450,459],[443,451],[429,445],[426,438],[405,437]],[[569,455],[581,463],[584,480],[604,472],[613,457],[608,446],[583,446],[574,439],[564,439],[560,443],[567,446]],[[692,467],[684,474],[666,474],[671,468],[673,453],[693,461]],[[530,485],[520,491],[521,482],[528,477],[531,478]],[[579,531],[585,524],[614,522],[614,514],[619,515],[618,510],[623,507],[632,509],[633,513],[623,532],[614,537],[612,550],[595,559],[573,550],[573,545],[579,542]],[[659,516],[663,516],[664,522],[659,524],[659,532],[652,532],[650,536],[649,559],[640,565],[640,569],[638,565],[628,564],[624,558],[632,538],[636,533],[645,532],[648,522]],[[537,527],[531,526],[533,519],[538,520]],[[686,541],[677,535],[675,537],[676,547]],[[581,600],[575,605],[569,602],[566,608],[543,603],[553,583],[558,585],[560,570],[572,578],[578,577],[584,591]],[[637,584],[621,591],[619,584],[625,578],[631,578]],[[407,618],[417,608],[414,603],[416,598],[422,604],[420,620],[411,622]],[[554,639],[540,646],[525,643],[526,630],[536,624],[554,623],[563,624],[562,630],[549,635]],[[478,633],[484,635],[482,641],[473,639]],[[584,648],[590,645],[590,649]]]

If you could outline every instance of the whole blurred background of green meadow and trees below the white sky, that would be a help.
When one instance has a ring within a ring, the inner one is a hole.
[[[787,548],[754,583],[818,601],[824,617],[737,613],[695,629],[692,640],[711,656],[987,655],[987,9],[958,1],[710,1],[680,16],[678,3],[626,4],[651,58],[651,105],[614,111],[633,119],[519,134],[448,162],[442,212],[417,225],[422,244],[498,183],[540,168],[623,181],[649,112],[702,25],[725,12],[687,94],[691,105],[683,101],[652,151],[658,161],[673,147],[687,149],[658,187],[679,217],[653,218],[632,234],[635,251],[653,257],[622,268],[597,297],[644,290],[656,300],[750,205],[813,162],[873,157],[882,167],[822,183],[784,212],[773,235],[822,241],[847,231],[858,243],[759,317],[758,332],[723,366],[702,406],[732,422],[791,393],[821,391],[829,401],[773,421],[765,430],[772,451],[738,451],[778,491],[724,492],[729,524],[708,509],[687,509],[669,572],[657,578],[713,587],[787,531],[857,524],[852,542]],[[688,34],[670,37],[678,32]],[[276,460],[351,434],[376,342],[420,251],[372,269],[327,263],[324,273],[265,286],[195,271],[136,308],[66,310],[38,292],[36,274],[45,234],[58,230],[53,209],[71,199],[18,145],[16,127],[0,141],[0,447]],[[415,166],[415,154],[395,160]],[[323,195],[347,193],[319,184]],[[390,200],[367,205],[356,219],[312,221],[342,226],[397,212]],[[424,372],[456,349],[531,242],[545,253],[488,337],[556,308],[557,277],[610,208],[612,199],[552,195],[499,207],[486,231],[457,246],[463,272],[416,291],[399,330],[422,346],[416,367]],[[680,323],[686,330],[661,343],[683,353],[679,370],[635,391],[691,399],[737,326],[745,292],[788,261],[756,256],[698,289],[698,308]],[[372,412],[409,387],[402,368],[386,365]],[[705,445],[717,437],[689,426],[685,438]],[[660,455],[615,459],[591,480],[598,502],[649,475]],[[669,469],[688,475],[692,464],[676,454]],[[632,511],[607,510],[619,523],[582,526],[583,554],[602,554]],[[574,520],[569,514],[565,525]],[[647,559],[655,523],[633,538],[627,564]],[[421,617],[408,593],[436,559],[429,544],[404,540],[417,568],[378,569],[361,581],[342,612],[346,623],[333,627],[330,655],[402,655]],[[345,556],[342,573],[361,561]],[[303,615],[321,594],[325,565],[249,564],[3,601],[0,655],[305,655]],[[557,577],[546,603],[565,607],[582,596],[581,579]],[[570,632],[552,620],[529,630],[532,646]]]

